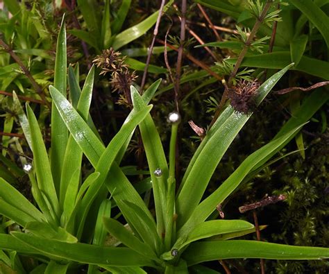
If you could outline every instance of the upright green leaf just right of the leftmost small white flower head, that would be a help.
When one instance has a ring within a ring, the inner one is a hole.
[[[51,174],[51,167],[47,155],[46,147],[42,139],[42,133],[37,123],[37,119],[33,110],[26,104],[28,123],[30,125],[32,151],[33,151],[33,165],[35,173],[37,174],[37,186],[42,192],[44,199],[47,199],[51,204],[49,210],[53,212],[54,216],[60,216],[60,205],[56,195],[56,189],[53,182],[53,175]],[[59,176],[58,176],[59,177]],[[53,220],[58,223],[58,220]]]

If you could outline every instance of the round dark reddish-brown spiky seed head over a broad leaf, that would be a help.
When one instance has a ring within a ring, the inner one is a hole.
[[[257,80],[239,80],[237,85],[229,89],[230,104],[237,112],[243,114],[253,112],[256,108],[254,99],[259,87],[260,83]]]

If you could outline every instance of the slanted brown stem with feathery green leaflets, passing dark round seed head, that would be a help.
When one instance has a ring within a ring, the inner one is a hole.
[[[258,29],[260,28],[262,22],[264,21],[264,18],[267,15],[267,12],[269,11],[269,8],[271,8],[272,2],[267,2],[262,10],[262,13],[260,14],[260,17],[256,19],[255,25],[253,26],[253,29],[251,33],[248,36],[248,39],[246,40],[246,43],[244,44],[242,51],[239,54],[239,57],[237,58],[237,62],[235,63],[235,66],[233,68],[232,73],[230,74],[230,77],[228,78],[228,86],[231,85],[231,82],[233,78],[237,75],[237,71],[242,64],[242,60],[244,60],[244,56],[246,55],[249,46],[251,46],[251,42],[253,41],[253,38],[255,37],[256,33],[258,32]],[[228,88],[224,89],[223,96],[221,96],[221,101],[219,102],[219,105],[217,107],[217,110],[214,114],[214,117],[212,118],[212,121],[210,123],[210,128],[214,124],[214,122],[219,117],[219,114],[221,114],[221,110],[223,109],[223,106],[225,105],[226,101],[228,99]]]

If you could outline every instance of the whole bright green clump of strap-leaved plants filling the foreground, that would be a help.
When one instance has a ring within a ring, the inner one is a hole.
[[[93,68],[82,92],[74,70],[69,68],[71,103],[67,101],[65,40],[62,24],[58,36],[55,86],[49,87],[53,99],[50,163],[33,110],[26,105],[26,117],[22,108],[18,107],[19,121],[33,151],[32,165],[24,159],[22,161],[39,209],[6,180],[0,179],[0,213],[3,215],[0,248],[3,250],[4,267],[24,272],[17,254],[34,258],[35,273],[67,273],[68,269],[78,271],[81,264],[89,264],[89,273],[97,273],[96,266],[113,273],[145,273],[151,268],[166,273],[187,273],[188,267],[193,269],[201,262],[214,259],[329,257],[326,248],[228,240],[254,232],[255,227],[246,221],[212,218],[217,205],[235,191],[248,175],[262,169],[312,117],[323,103],[318,100],[319,94],[311,95],[271,142],[247,157],[213,194],[201,201],[217,164],[251,113],[235,112],[231,106],[223,110],[192,157],[176,192],[175,154],[179,114],[173,112],[169,115],[169,166],[149,114],[152,106],[148,104],[160,80],[151,85],[143,96],[131,87],[134,108],[117,135],[105,147],[88,115]],[[260,104],[290,67],[292,65],[260,86],[255,96],[256,104]],[[328,99],[326,93],[321,93],[321,96]],[[15,103],[19,104],[17,97]],[[151,174],[155,220],[119,167],[137,125]],[[67,135],[67,129],[70,135]],[[81,181],[83,154],[94,171]],[[108,192],[112,200],[108,199]],[[116,218],[110,218],[114,205],[119,207],[130,230]],[[7,234],[6,230],[11,231]],[[107,231],[121,246],[104,246]],[[206,240],[199,241],[203,239]]]

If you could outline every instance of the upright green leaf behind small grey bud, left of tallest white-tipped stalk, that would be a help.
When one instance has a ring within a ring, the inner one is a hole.
[[[146,107],[144,100],[137,92],[135,87],[131,86],[131,97],[136,110],[141,110]],[[151,115],[147,115],[144,121],[140,123],[140,132],[145,148],[147,162],[151,173],[153,185],[153,196],[155,201],[155,212],[158,225],[158,234],[165,233],[165,208],[166,208],[166,189],[167,178],[169,175],[168,164],[163,150],[161,139],[158,130],[155,127]],[[155,176],[155,170],[160,169],[162,175]]]

